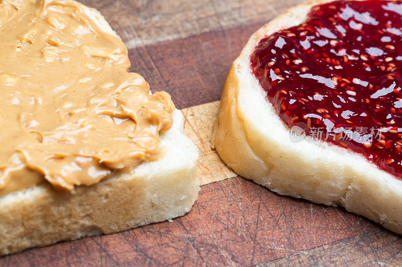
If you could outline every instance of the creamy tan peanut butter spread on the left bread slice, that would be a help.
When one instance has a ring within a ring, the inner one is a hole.
[[[83,6],[0,0],[0,195],[72,190],[162,156],[169,94],[129,73],[123,42]]]

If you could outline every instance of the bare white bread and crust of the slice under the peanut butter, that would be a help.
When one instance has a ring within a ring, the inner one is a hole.
[[[116,35],[97,11],[84,10],[100,29]],[[160,140],[163,158],[142,163],[132,174],[115,172],[71,192],[56,191],[45,183],[0,197],[0,255],[123,231],[188,212],[199,191],[198,152],[183,135],[179,110]]]

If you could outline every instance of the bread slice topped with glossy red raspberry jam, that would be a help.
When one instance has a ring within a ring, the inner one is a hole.
[[[315,0],[254,33],[224,86],[221,158],[278,194],[402,233],[401,11]]]

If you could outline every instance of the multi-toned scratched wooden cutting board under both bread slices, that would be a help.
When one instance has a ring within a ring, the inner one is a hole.
[[[400,265],[402,239],[343,208],[279,196],[210,148],[223,83],[249,36],[299,0],[85,0],[129,49],[132,71],[166,90],[200,151],[192,210],[172,221],[34,248],[0,265]]]

